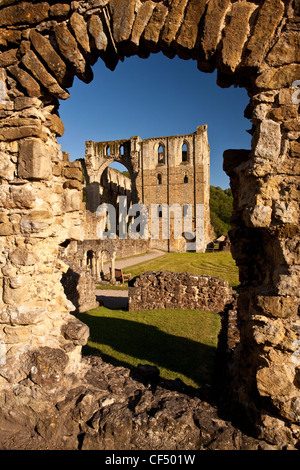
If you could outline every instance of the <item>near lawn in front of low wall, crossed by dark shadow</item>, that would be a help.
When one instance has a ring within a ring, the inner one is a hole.
[[[83,354],[114,365],[155,365],[162,378],[200,387],[211,381],[219,315],[198,310],[127,312],[99,307],[78,318],[90,328]]]

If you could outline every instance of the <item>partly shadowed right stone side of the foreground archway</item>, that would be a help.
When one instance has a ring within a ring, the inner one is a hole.
[[[282,443],[292,441],[300,419],[299,124],[295,90],[269,80],[257,80],[267,91],[251,100],[252,150],[225,152],[224,169],[234,194],[230,237],[241,280],[233,389],[261,437]]]

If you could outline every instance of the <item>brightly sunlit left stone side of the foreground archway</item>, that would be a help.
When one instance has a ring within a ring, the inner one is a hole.
[[[68,266],[58,259],[58,247],[66,239],[82,236],[81,171],[56,143],[54,128],[57,134],[60,120],[52,109],[37,98],[19,95],[14,100],[6,97],[1,104],[5,115],[0,139],[0,341],[7,345],[0,359],[4,413],[13,406],[14,386],[23,380],[27,387],[19,389],[20,406],[31,399],[36,387],[58,390],[68,374],[80,370],[81,345],[62,333],[77,320],[69,313],[72,306],[60,283]],[[78,325],[81,335],[86,326],[79,321]],[[5,391],[10,399],[4,403]]]

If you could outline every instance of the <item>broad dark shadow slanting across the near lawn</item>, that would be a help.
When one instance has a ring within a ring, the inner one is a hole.
[[[95,317],[89,314],[80,314],[78,318],[89,326],[89,340],[99,344],[99,349],[84,346],[84,355],[100,354],[106,362],[123,367],[136,366],[138,363],[152,364],[159,369],[172,371],[173,378],[181,374],[191,379],[196,384],[194,386],[201,387],[211,383],[215,347],[173,336],[155,326],[127,319]],[[108,354],[105,346],[116,351],[116,357],[111,352]],[[166,378],[162,370],[161,376]],[[184,381],[183,378],[182,380]]]

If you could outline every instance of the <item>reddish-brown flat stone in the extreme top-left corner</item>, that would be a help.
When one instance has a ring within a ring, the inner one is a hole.
[[[49,4],[41,2],[20,2],[18,5],[8,6],[0,11],[0,25],[11,26],[19,23],[39,23],[48,17]]]

